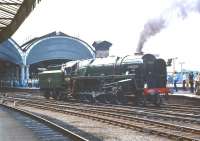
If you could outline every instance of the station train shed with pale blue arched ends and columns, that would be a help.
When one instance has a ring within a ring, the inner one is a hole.
[[[102,49],[99,51],[102,54]],[[95,58],[99,51],[85,41],[62,32],[34,38],[21,46],[10,38],[0,44],[0,85],[27,87],[29,80],[37,84],[38,68],[69,60]],[[104,51],[108,55],[108,51]]]

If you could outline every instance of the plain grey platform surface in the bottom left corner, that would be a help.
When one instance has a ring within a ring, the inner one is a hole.
[[[0,106],[0,141],[39,141],[39,139]]]

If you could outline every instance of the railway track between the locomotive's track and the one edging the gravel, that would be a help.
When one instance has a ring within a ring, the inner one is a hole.
[[[65,106],[66,108],[70,108],[71,104],[61,104],[62,106]],[[76,104],[75,104],[76,105]],[[74,108],[74,106],[72,108]],[[151,119],[164,119],[164,120],[173,120],[178,122],[189,122],[189,123],[195,123],[200,125],[200,119],[199,114],[198,115],[191,115],[191,114],[184,114],[184,113],[175,113],[175,112],[169,112],[166,110],[159,110],[159,109],[149,109],[149,108],[141,108],[141,107],[130,107],[130,108],[123,108],[123,107],[109,107],[109,106],[96,106],[96,105],[77,105],[82,106],[84,108],[87,108],[89,110],[99,112],[112,112],[112,113],[118,113],[122,115],[129,115],[129,116],[135,116],[137,115],[140,117],[145,118],[151,118]],[[80,110],[79,108],[74,108],[77,110]]]

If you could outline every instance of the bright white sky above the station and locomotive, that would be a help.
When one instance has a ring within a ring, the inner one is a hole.
[[[200,10],[195,4],[199,0],[42,0],[12,38],[21,45],[61,31],[90,45],[107,40],[113,44],[110,55],[123,56],[135,53],[149,20],[164,19],[164,27],[150,34],[142,51],[177,57],[177,70],[180,62],[184,69],[200,70]]]

